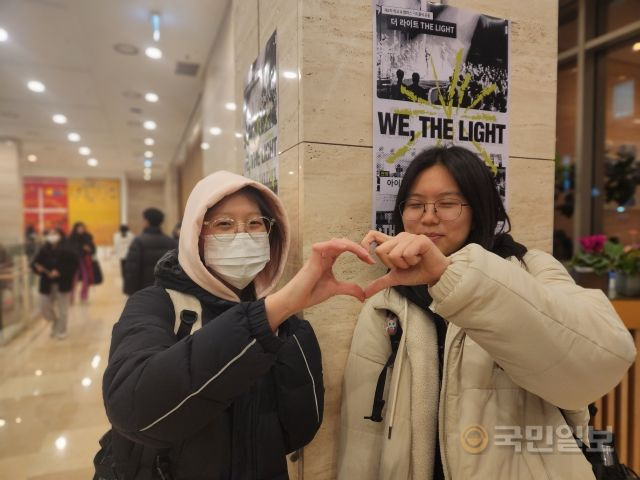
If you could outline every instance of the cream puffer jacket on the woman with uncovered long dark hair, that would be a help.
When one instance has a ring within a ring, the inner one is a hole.
[[[442,388],[432,319],[393,289],[364,306],[344,377],[338,479],[431,479],[436,429],[447,479],[594,478],[568,427],[586,438],[586,406],[635,359],[611,303],[541,251],[526,254],[526,268],[476,244],[451,259],[429,288],[431,310],[449,322]],[[388,311],[403,335],[375,423],[364,417],[391,353]]]

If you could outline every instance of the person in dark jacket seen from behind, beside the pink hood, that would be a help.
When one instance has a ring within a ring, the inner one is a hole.
[[[131,242],[124,262],[124,293],[127,295],[153,285],[156,263],[169,250],[178,247],[178,242],[160,228],[164,220],[162,211],[147,208],[142,216],[144,230]]]

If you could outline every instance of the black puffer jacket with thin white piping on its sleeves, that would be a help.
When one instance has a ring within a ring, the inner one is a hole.
[[[168,448],[179,480],[287,479],[285,454],[311,441],[322,422],[322,361],[311,325],[291,317],[274,335],[264,300],[213,296],[186,276],[175,252],[156,273],[158,285],[129,298],[113,330],[103,381],[112,425]],[[179,342],[163,287],[203,307],[202,328]],[[153,457],[143,455],[136,480],[152,478]]]

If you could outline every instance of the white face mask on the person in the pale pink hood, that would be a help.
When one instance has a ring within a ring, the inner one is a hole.
[[[232,238],[233,233],[227,237]],[[220,235],[219,235],[220,236]],[[233,240],[218,240],[204,236],[204,263],[220,278],[239,290],[249,285],[271,258],[269,235],[246,232],[235,234]]]

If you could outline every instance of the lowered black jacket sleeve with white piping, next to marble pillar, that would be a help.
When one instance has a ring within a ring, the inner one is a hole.
[[[322,356],[311,324],[292,317],[281,329],[286,340],[275,364],[278,415],[287,453],[308,444],[322,423]]]

